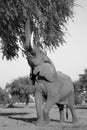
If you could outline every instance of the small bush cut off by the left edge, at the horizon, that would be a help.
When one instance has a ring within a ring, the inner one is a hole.
[[[7,104],[9,102],[10,99],[8,93],[0,87],[0,104]]]

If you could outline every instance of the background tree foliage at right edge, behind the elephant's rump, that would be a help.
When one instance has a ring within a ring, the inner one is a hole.
[[[76,103],[87,103],[87,69],[84,74],[79,75],[79,80],[75,82]]]

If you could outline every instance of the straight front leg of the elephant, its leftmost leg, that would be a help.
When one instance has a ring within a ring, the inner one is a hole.
[[[35,104],[37,112],[37,121],[34,122],[36,125],[42,124],[43,122],[43,107],[42,107],[42,94],[39,91],[35,92]]]

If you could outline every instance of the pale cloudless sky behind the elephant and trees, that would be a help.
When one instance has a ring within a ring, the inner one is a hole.
[[[74,18],[67,24],[66,43],[55,52],[48,52],[56,70],[69,75],[73,81],[87,68],[87,0],[76,0],[80,6],[74,7]],[[17,60],[2,60],[0,53],[0,87],[18,77],[29,75],[27,60],[20,56]]]

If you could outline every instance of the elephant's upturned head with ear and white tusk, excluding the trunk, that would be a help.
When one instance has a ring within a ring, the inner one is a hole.
[[[31,74],[52,82],[57,79],[57,72],[51,59],[33,42],[34,33],[31,34],[30,51],[27,61],[31,67]],[[34,77],[33,76],[33,77]]]

